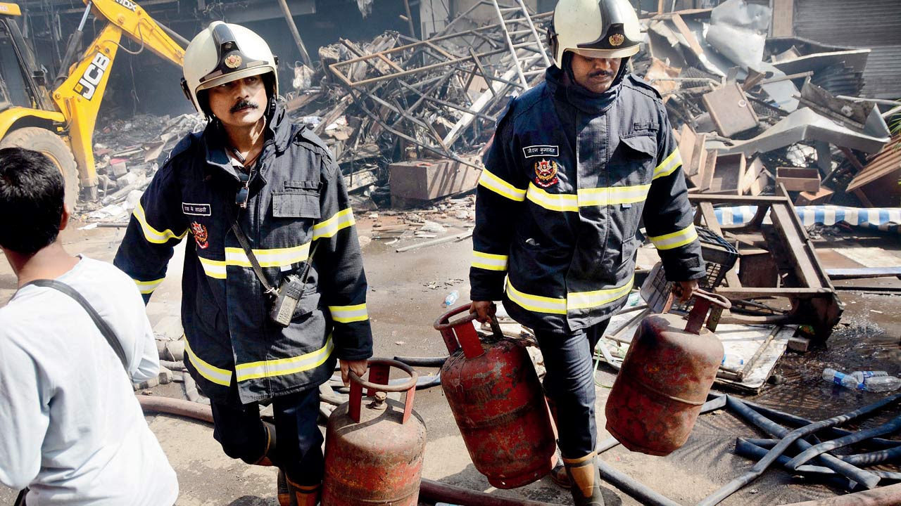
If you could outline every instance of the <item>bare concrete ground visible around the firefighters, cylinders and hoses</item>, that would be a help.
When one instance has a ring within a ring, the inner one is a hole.
[[[358,216],[361,235],[369,235],[372,221]],[[450,233],[464,230],[451,223]],[[122,230],[68,230],[63,240],[70,253],[112,260]],[[422,239],[417,239],[422,240]],[[893,240],[896,240],[893,238]],[[369,315],[375,334],[377,357],[438,356],[446,353],[432,322],[445,310],[441,302],[456,289],[460,303],[468,301],[469,254],[471,241],[461,240],[440,246],[396,253],[394,248],[413,244],[404,240],[387,246],[373,240],[363,250],[369,276]],[[179,255],[174,259],[180,262]],[[899,259],[901,264],[901,259]],[[13,294],[14,276],[0,262],[0,301]],[[843,267],[843,266],[838,266]],[[177,325],[180,267],[160,285],[148,307],[151,322],[158,331]],[[439,289],[428,285],[435,283]],[[842,293],[846,312],[842,325],[824,346],[803,355],[787,353],[779,361],[776,373],[782,382],[769,385],[754,400],[782,411],[820,420],[876,402],[887,394],[858,393],[833,388],[819,379],[824,366],[845,370],[885,369],[901,372],[901,298],[887,295]],[[612,385],[612,370],[598,372],[601,384]],[[434,370],[423,368],[421,374]],[[154,389],[158,395],[180,395],[180,385]],[[598,388],[598,427],[603,429],[604,403],[609,390]],[[493,489],[469,460],[447,402],[440,388],[416,394],[415,409],[426,421],[428,444],[423,477],[457,484],[473,490],[507,497],[528,498],[548,504],[571,504],[569,492],[562,491],[547,477],[513,491]],[[850,429],[869,427],[897,416],[898,408],[866,420]],[[272,468],[244,465],[224,456],[212,437],[212,428],[196,421],[166,415],[147,417],[179,476],[180,506],[258,506],[275,505],[275,471]],[[601,431],[599,438],[609,436]],[[733,477],[750,468],[751,463],[733,453],[736,437],[765,437],[726,411],[703,415],[696,423],[687,444],[666,457],[631,453],[623,447],[605,452],[605,461],[657,492],[680,504],[693,504],[714,492]],[[897,470],[896,468],[891,468]],[[831,497],[838,490],[808,483],[780,470],[769,470],[757,481],[745,486],[722,502],[726,506],[771,505]],[[11,503],[14,492],[0,486],[0,503]],[[633,505],[623,492],[605,483],[608,505]]]

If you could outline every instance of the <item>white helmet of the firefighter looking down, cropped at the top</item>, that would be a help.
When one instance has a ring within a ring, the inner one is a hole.
[[[566,51],[587,58],[633,56],[642,41],[642,27],[628,0],[560,0],[548,40],[554,65],[562,68]]]

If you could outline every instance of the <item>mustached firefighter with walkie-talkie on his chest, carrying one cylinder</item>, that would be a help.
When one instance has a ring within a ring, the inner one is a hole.
[[[209,123],[169,154],[115,265],[150,298],[189,232],[186,366],[233,458],[277,465],[283,506],[313,506],[323,477],[318,386],[336,361],[366,372],[366,276],[341,170],[278,104],[277,61],[254,32],[214,22],[185,51],[185,94]],[[271,401],[275,424],[259,419]],[[278,435],[278,438],[277,438]]]

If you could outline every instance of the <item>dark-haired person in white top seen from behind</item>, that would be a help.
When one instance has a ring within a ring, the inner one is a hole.
[[[57,236],[68,209],[59,169],[37,151],[0,149],[0,248],[19,291],[0,308],[0,483],[40,506],[171,506],[175,471],[144,420],[130,378],[157,375],[150,322],[131,278],[72,257]],[[74,288],[113,330],[123,361]]]

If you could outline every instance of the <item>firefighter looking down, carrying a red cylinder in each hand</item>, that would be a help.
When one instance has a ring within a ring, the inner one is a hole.
[[[642,33],[627,0],[560,0],[544,82],[497,123],[476,199],[470,311],[503,301],[542,348],[544,391],[578,506],[602,505],[592,357],[633,288],[644,222],[687,299],[705,276],[660,95],[629,74]]]

